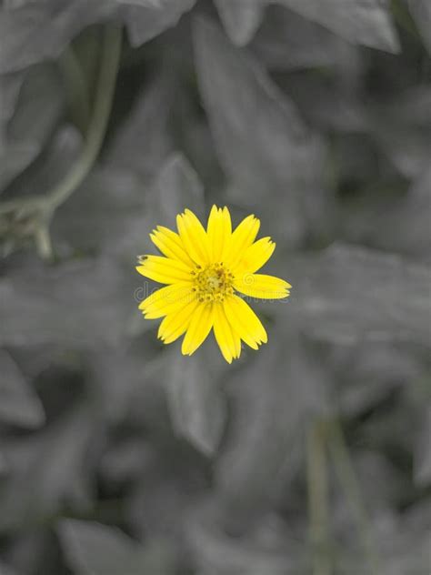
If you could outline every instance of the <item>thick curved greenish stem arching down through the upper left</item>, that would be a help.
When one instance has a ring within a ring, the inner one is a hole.
[[[109,26],[105,30],[100,76],[95,96],[93,118],[88,129],[85,146],[70,172],[48,195],[51,213],[75,191],[95,163],[102,146],[111,112],[115,79],[121,53],[121,29]]]

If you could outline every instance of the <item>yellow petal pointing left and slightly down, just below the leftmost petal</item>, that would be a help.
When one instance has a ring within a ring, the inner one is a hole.
[[[195,299],[195,294],[190,284],[171,284],[157,289],[148,298],[145,298],[139,304],[139,309],[142,309],[146,319],[163,318],[163,316],[183,308],[192,299]]]

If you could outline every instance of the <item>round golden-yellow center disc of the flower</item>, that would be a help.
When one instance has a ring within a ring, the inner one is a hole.
[[[195,278],[193,289],[199,301],[223,301],[234,293],[234,276],[223,262],[206,267],[196,266],[192,274]]]

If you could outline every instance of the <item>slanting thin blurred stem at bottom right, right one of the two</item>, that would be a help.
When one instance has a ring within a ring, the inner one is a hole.
[[[378,575],[380,573],[380,561],[372,535],[372,527],[363,503],[361,489],[346,445],[343,429],[337,419],[334,419],[330,426],[329,447],[332,450],[338,478],[354,513],[370,573],[371,575]]]

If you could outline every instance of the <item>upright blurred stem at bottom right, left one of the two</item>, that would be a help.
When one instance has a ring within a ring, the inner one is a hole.
[[[313,546],[313,575],[331,575],[326,424],[322,421],[316,421],[308,430],[306,458],[310,538]]]

